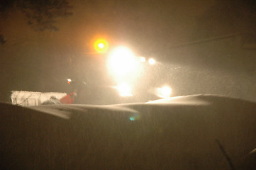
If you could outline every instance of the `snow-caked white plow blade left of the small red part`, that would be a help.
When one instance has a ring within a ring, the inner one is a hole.
[[[50,100],[51,96],[55,96],[55,98],[60,100],[60,98],[66,95],[65,93],[58,92],[11,91],[11,103],[18,106],[38,106]]]

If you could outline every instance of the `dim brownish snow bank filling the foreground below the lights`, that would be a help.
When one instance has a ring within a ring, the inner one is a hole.
[[[256,162],[249,154],[256,147],[256,103],[238,98],[0,107],[5,169],[211,170]]]

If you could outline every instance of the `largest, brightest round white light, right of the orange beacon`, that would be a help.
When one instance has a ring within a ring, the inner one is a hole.
[[[137,71],[138,58],[126,47],[117,47],[108,57],[108,68],[113,74],[126,76]]]

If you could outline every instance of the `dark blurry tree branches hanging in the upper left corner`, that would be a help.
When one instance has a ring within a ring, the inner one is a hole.
[[[0,14],[11,8],[22,11],[28,24],[34,30],[58,30],[55,26],[57,18],[72,15],[72,6],[66,0],[2,0],[0,1]],[[0,23],[1,24],[1,23]]]

